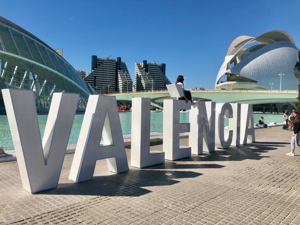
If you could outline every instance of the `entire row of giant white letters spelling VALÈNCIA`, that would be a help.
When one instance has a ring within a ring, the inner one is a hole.
[[[41,140],[33,91],[2,89],[2,94],[23,188],[30,193],[56,188],[79,95],[53,94]],[[163,152],[150,151],[150,99],[134,98],[132,108],[131,165],[134,167],[255,141],[250,104],[198,101],[191,106],[182,100],[164,100]],[[190,109],[189,123],[179,122],[181,109]],[[224,118],[229,118],[226,130]],[[179,146],[182,132],[189,132],[189,146]],[[89,96],[69,179],[91,180],[99,159],[107,159],[108,169],[114,173],[128,171],[114,96]]]

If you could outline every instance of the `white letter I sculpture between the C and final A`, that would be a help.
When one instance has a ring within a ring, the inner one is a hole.
[[[229,119],[229,130],[233,130],[232,146],[240,145],[240,133],[241,133],[241,104],[230,103],[233,111],[233,118]]]

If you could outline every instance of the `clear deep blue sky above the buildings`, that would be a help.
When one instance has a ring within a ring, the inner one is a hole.
[[[166,63],[171,82],[214,87],[231,41],[281,29],[300,47],[300,1],[1,1],[1,16],[37,36],[76,69],[91,55]],[[73,19],[71,19],[73,18]]]

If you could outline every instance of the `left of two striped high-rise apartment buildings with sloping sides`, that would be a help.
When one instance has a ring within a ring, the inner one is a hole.
[[[132,79],[121,57],[105,59],[92,55],[91,73],[84,80],[102,94],[132,91]]]

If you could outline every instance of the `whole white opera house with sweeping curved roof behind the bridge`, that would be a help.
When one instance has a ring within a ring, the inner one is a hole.
[[[229,45],[215,90],[297,90],[299,54],[292,37],[281,30],[256,38],[239,36]],[[275,107],[274,104],[265,106]],[[279,112],[282,105],[276,104]],[[293,107],[293,103],[286,105],[288,109]]]

